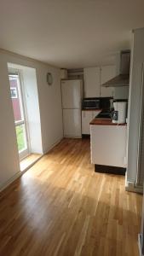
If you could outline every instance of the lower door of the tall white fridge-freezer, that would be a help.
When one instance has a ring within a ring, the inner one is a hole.
[[[64,137],[82,137],[81,109],[63,109]]]

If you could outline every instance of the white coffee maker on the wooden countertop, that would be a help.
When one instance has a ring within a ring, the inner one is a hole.
[[[127,102],[113,102],[112,123],[124,124],[126,122]]]

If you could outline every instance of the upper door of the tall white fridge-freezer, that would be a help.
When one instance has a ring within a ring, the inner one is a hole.
[[[62,108],[81,108],[82,106],[82,81],[61,81]]]

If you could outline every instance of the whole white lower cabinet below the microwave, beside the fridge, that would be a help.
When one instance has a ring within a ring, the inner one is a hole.
[[[82,110],[82,134],[90,134],[90,121],[95,119],[101,110]]]

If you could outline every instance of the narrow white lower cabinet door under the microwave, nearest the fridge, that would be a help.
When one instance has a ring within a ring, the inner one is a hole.
[[[82,134],[90,134],[89,123],[92,119],[92,111],[82,111]]]

